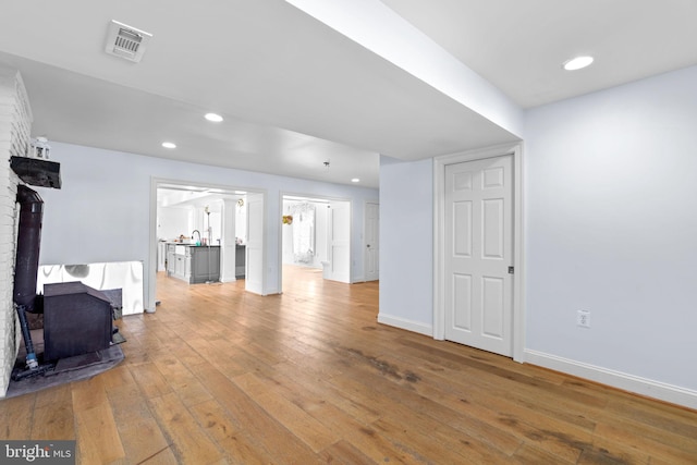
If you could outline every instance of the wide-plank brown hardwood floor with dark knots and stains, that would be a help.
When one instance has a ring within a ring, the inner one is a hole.
[[[125,360],[0,401],[0,438],[83,464],[697,463],[697,412],[379,325],[376,282],[243,289],[158,277]]]

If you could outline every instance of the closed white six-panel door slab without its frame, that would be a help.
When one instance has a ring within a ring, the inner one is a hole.
[[[512,157],[445,167],[445,339],[513,353]]]

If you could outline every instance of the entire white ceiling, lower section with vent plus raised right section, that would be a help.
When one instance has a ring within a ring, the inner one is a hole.
[[[356,15],[378,3],[322,7],[398,48],[407,44],[391,35],[384,16]],[[384,5],[411,23],[412,39],[450,53],[438,60],[464,63],[521,111],[697,64],[695,0]],[[154,34],[140,63],[103,52],[111,20]],[[22,72],[34,136],[303,179],[359,178],[376,187],[378,154],[416,160],[522,136],[482,117],[466,96],[332,27],[282,0],[4,1],[0,63]],[[402,49],[416,58],[429,50]],[[578,53],[596,62],[564,72],[561,63]],[[487,103],[487,96],[473,97]],[[205,121],[208,111],[225,121]],[[163,140],[178,148],[160,147]]]

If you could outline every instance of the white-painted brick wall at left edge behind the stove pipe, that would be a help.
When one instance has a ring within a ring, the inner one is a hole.
[[[22,76],[0,65],[0,397],[8,390],[22,341],[12,302],[20,180],[10,169],[10,157],[28,154],[30,127],[32,110]]]

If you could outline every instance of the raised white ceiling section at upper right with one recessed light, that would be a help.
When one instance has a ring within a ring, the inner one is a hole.
[[[383,0],[523,108],[697,64],[695,0]],[[561,64],[580,54],[591,68]]]

